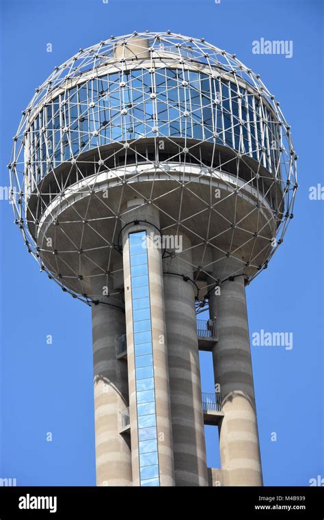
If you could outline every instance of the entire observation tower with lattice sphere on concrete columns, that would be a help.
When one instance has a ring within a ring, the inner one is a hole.
[[[293,218],[296,159],[260,77],[204,38],[111,36],[36,89],[9,165],[15,221],[92,308],[98,485],[262,485],[245,285]]]

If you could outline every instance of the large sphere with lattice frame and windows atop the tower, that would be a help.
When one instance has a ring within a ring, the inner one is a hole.
[[[111,36],[55,67],[23,112],[16,224],[86,302],[122,274],[134,199],[159,209],[157,232],[189,237],[195,281],[249,281],[293,217],[296,159],[279,103],[235,55],[171,31]]]

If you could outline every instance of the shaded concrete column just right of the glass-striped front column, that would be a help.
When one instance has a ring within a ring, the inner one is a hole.
[[[176,486],[208,486],[195,286],[177,276],[193,278],[191,242],[184,235],[182,239],[183,252],[163,261],[174,470]]]

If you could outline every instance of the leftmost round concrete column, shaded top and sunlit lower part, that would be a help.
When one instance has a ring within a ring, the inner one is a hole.
[[[98,486],[128,486],[131,439],[129,434],[120,434],[120,411],[129,406],[127,364],[116,359],[116,338],[125,333],[125,315],[120,298],[105,298],[105,302],[109,305],[92,306],[96,482]]]

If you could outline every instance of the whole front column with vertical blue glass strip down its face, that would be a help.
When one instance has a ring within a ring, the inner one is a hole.
[[[133,485],[174,486],[159,210],[130,200],[122,222]]]

